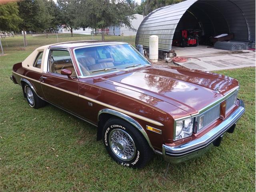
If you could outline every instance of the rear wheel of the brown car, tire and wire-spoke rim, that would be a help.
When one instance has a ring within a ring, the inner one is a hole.
[[[28,84],[24,85],[23,91],[26,95],[26,98],[30,107],[38,109],[46,105],[46,102],[41,98],[39,98]]]

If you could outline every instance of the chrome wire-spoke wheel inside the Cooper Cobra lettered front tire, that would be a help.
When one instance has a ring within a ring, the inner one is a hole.
[[[132,137],[122,129],[114,129],[110,132],[109,143],[114,154],[124,161],[134,158],[136,147]]]

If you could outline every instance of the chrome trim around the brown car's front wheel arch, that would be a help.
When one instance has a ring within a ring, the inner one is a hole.
[[[116,117],[119,117],[127,122],[129,122],[130,124],[132,124],[135,128],[137,128],[141,133],[142,135],[144,136],[144,138],[147,140],[150,148],[152,148],[152,150],[155,152],[149,138],[148,138],[148,135],[146,133],[146,131],[142,128],[142,126],[136,121],[134,120],[133,118],[131,118],[130,116],[124,114],[124,113],[121,113],[121,112],[118,112],[116,110],[112,110],[112,109],[102,109],[98,112],[98,121],[99,121],[99,118],[100,118],[100,115],[101,114],[111,114],[113,116],[116,116]]]

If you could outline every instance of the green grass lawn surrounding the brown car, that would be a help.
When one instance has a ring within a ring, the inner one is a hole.
[[[91,36],[59,35],[59,42],[86,39]],[[238,79],[246,113],[220,147],[170,164],[165,176],[167,163],[161,156],[141,170],[118,166],[102,141],[96,141],[94,126],[52,105],[38,110],[28,106],[20,86],[9,78],[12,65],[55,40],[28,36],[24,51],[19,50],[22,37],[2,40],[6,55],[0,56],[0,191],[255,191],[255,68],[218,71]],[[134,45],[134,37],[124,41]]]

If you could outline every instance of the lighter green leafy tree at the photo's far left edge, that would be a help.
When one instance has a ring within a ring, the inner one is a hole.
[[[19,17],[19,9],[16,2],[0,5],[0,31],[11,32],[18,30],[22,19]]]

